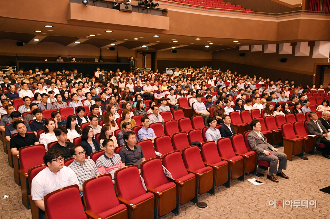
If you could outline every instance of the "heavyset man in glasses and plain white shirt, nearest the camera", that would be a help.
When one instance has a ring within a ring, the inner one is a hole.
[[[44,163],[47,167],[32,180],[31,196],[39,208],[39,218],[46,218],[44,203],[46,194],[70,185],[80,185],[75,172],[64,166],[62,155],[58,150],[47,151],[44,155]],[[79,187],[79,191],[82,192],[82,187]]]

